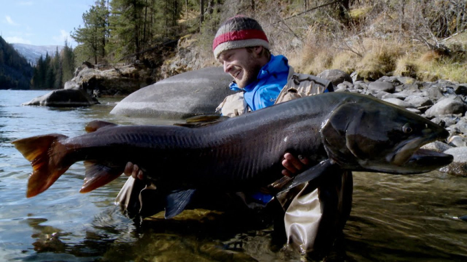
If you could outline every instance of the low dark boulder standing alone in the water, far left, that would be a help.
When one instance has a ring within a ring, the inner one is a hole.
[[[84,107],[93,104],[99,104],[98,100],[82,90],[60,89],[36,97],[23,106]]]

